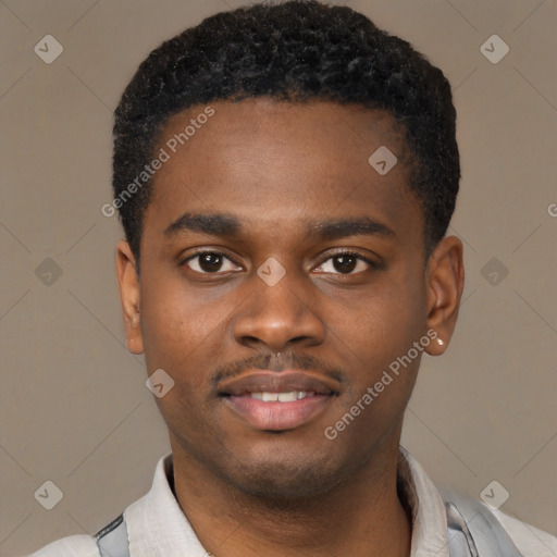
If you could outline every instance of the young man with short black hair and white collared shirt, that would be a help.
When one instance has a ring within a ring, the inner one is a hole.
[[[455,121],[443,73],[348,8],[221,13],[151,52],[103,211],[172,454],[96,536],[36,556],[557,554],[399,447],[463,287]]]

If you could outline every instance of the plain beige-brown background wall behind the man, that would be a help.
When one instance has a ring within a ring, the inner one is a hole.
[[[143,360],[124,346],[121,231],[100,212],[112,111],[161,40],[240,3],[0,1],[1,556],[95,533],[168,450]],[[423,361],[403,444],[466,494],[497,480],[503,510],[557,534],[557,2],[343,3],[438,64],[459,114],[465,301],[448,354]],[[47,34],[64,48],[52,64],[33,50]],[[493,34],[510,47],[497,64],[480,51]],[[50,285],[35,273],[46,258],[62,271]],[[482,272],[492,258],[504,280]],[[50,511],[34,498],[47,480],[63,492]]]

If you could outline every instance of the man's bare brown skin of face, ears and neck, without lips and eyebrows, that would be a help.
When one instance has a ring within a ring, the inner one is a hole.
[[[334,441],[323,432],[428,330],[444,344],[425,352],[446,349],[463,287],[462,244],[445,237],[425,258],[410,157],[391,115],[324,101],[211,106],[215,114],[154,176],[140,276],[128,244],[117,245],[128,348],[145,354],[149,374],[162,368],[175,382],[156,400],[177,500],[215,557],[408,556],[396,469],[420,358]],[[172,117],[159,148],[203,108]],[[380,146],[398,159],[384,176],[368,163]],[[243,228],[165,234],[186,212],[234,215]],[[355,218],[393,234],[308,233],[314,221]],[[219,260],[184,262],[198,248],[230,260],[203,274]],[[341,261],[352,268],[339,267],[334,256],[346,250],[374,264],[348,258]],[[270,257],[286,272],[274,286],[257,274]],[[276,352],[275,371],[314,370],[341,388],[301,426],[269,432],[232,412],[214,384],[264,369]]]

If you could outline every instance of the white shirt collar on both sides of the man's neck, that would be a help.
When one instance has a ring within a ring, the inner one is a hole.
[[[398,491],[412,517],[410,557],[448,557],[445,507],[421,465],[403,447]],[[172,453],[157,463],[150,491],[124,511],[132,557],[208,557],[171,485]]]

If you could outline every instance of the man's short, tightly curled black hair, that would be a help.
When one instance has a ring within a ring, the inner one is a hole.
[[[443,238],[460,180],[456,111],[443,72],[350,8],[290,0],[205,18],[154,49],[127,85],[115,111],[113,193],[125,201],[117,208],[137,263],[152,180],[122,196],[138,184],[169,119],[196,104],[256,97],[392,114],[414,160],[409,187],[423,212],[426,253]]]

